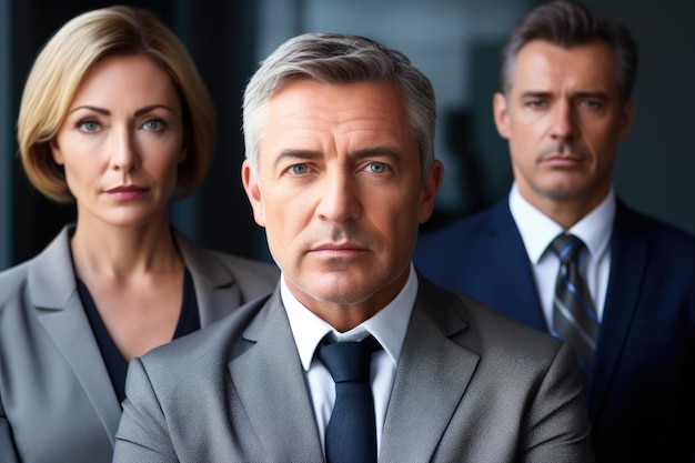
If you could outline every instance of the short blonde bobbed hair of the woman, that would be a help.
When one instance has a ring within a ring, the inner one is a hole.
[[[142,54],[171,78],[183,110],[187,158],[179,165],[178,197],[184,198],[205,177],[215,141],[212,100],[183,43],[152,13],[110,7],[68,21],[40,51],[19,110],[17,138],[27,177],[46,197],[69,202],[64,170],[53,160],[50,142],[90,70],[104,57]]]

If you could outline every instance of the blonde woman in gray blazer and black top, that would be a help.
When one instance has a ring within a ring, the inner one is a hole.
[[[0,273],[0,460],[110,462],[128,362],[270,292],[274,266],[204,250],[168,203],[202,181],[210,97],[152,14],[113,7],[38,56],[18,138],[32,184],[73,201],[34,259]]]

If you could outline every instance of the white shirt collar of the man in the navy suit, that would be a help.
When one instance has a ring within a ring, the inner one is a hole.
[[[567,232],[580,238],[591,255],[600,255],[611,241],[615,209],[615,193],[611,187],[606,198]],[[516,182],[510,192],[510,210],[524,241],[528,259],[537,263],[550,243],[564,229],[526,201],[520,193]]]

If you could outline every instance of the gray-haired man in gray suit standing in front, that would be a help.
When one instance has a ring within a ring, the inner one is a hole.
[[[242,178],[281,281],[131,363],[115,462],[593,461],[571,349],[414,271],[435,113],[430,81],[365,38],[304,34],[264,61]],[[334,382],[326,350],[364,338],[364,387]],[[344,406],[351,386],[367,406]]]

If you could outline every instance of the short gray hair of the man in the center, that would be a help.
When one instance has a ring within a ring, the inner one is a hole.
[[[284,84],[302,79],[324,83],[396,83],[407,101],[410,127],[420,148],[422,178],[425,178],[434,160],[436,120],[430,80],[403,53],[374,40],[335,33],[305,33],[288,40],[271,53],[244,91],[244,143],[246,159],[256,179],[268,102]]]

